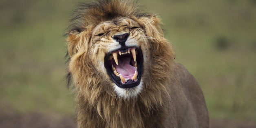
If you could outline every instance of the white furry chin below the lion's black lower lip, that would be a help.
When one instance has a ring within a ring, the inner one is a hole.
[[[131,99],[136,98],[139,93],[142,90],[143,81],[141,80],[140,84],[138,86],[135,86],[133,88],[120,88],[116,84],[114,84],[115,92],[117,93],[117,96],[121,99]]]

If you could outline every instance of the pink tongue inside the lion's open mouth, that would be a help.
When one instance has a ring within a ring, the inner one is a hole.
[[[130,57],[119,58],[118,65],[115,67],[124,78],[131,78],[136,71],[136,68],[130,65],[130,60]]]

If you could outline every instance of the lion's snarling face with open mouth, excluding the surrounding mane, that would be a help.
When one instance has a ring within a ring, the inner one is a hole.
[[[106,83],[111,83],[119,98],[137,97],[143,89],[143,62],[148,57],[148,42],[139,24],[128,18],[103,22],[93,30],[91,42],[94,65],[100,66],[96,70]]]

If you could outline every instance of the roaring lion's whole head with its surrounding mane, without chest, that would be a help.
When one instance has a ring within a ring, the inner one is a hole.
[[[68,75],[77,90],[88,97],[107,94],[129,99],[145,93],[154,82],[167,80],[174,53],[159,24],[157,16],[140,13],[136,2],[82,4],[67,38]]]

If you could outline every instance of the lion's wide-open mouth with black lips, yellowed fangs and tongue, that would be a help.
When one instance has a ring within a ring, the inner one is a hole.
[[[135,47],[113,51],[105,56],[105,68],[110,78],[120,88],[135,87],[141,80],[142,52]]]

